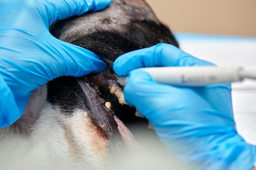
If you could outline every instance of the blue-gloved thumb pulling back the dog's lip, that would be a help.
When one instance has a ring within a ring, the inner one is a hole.
[[[95,53],[58,39],[55,39],[55,41],[55,48],[51,49],[51,52],[56,56],[49,55],[41,63],[42,66],[45,66],[44,71],[48,80],[63,75],[82,77],[90,73],[98,73],[107,68],[106,63]],[[52,41],[49,43],[52,43]]]

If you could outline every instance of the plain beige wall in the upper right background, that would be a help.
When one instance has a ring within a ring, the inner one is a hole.
[[[256,0],[146,0],[172,31],[256,37]]]

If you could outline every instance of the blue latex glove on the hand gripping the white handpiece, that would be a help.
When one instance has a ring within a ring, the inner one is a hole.
[[[187,88],[154,82],[140,67],[204,66],[170,44],[122,55],[114,62],[117,75],[129,75],[124,98],[146,117],[169,152],[199,170],[251,170],[256,147],[236,131],[231,86]]]

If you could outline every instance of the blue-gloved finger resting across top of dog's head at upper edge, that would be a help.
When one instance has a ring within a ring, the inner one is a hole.
[[[112,0],[45,0],[49,25],[55,20],[63,20],[87,11],[104,9]]]

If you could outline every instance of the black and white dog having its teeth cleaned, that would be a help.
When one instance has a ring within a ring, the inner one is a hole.
[[[120,55],[160,42],[179,46],[148,4],[113,0],[102,11],[54,22],[50,33],[96,53],[108,68],[84,77],[59,77],[34,90],[22,117],[0,129],[0,168],[126,169],[124,155],[140,155],[137,150],[162,155],[164,147],[148,121],[135,116],[136,108],[119,104],[108,85],[118,78],[112,64]],[[149,141],[160,147],[154,149]]]

